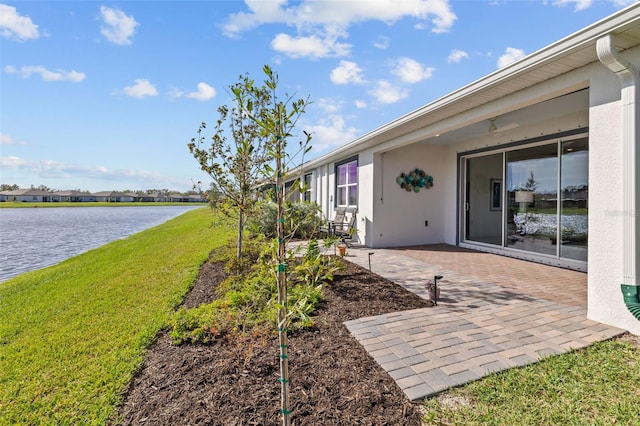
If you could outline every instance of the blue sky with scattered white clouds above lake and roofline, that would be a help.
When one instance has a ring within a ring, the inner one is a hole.
[[[0,0],[0,184],[189,191],[187,143],[264,65],[312,159],[631,3]]]

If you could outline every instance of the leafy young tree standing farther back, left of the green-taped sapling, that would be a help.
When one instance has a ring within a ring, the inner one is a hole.
[[[233,105],[218,108],[211,144],[205,144],[203,132],[207,125],[203,122],[197,138],[191,139],[188,147],[222,195],[217,206],[227,215],[238,215],[236,254],[240,258],[244,226],[257,203],[254,191],[270,160],[268,135],[250,114],[267,108],[269,93],[266,87],[256,87],[247,75],[240,76],[229,88]]]

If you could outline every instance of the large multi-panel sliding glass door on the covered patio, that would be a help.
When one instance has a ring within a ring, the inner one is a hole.
[[[463,157],[464,242],[587,261],[587,137]]]

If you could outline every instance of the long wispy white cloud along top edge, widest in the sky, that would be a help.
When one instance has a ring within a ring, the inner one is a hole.
[[[448,0],[315,1],[290,5],[287,0],[245,0],[247,12],[229,15],[225,34],[237,35],[263,24],[284,23],[298,30],[312,27],[342,28],[370,20],[392,24],[412,17],[430,22],[433,32],[448,31],[456,15]]]

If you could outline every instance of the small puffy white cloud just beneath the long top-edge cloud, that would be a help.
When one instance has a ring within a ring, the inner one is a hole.
[[[309,57],[312,59],[346,56],[351,49],[350,44],[339,43],[337,36],[291,37],[284,33],[278,34],[271,41],[271,47],[273,50],[292,58]]]

